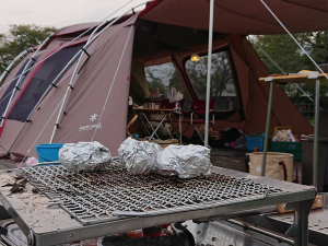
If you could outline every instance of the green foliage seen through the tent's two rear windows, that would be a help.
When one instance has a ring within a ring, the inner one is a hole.
[[[200,57],[200,60],[197,62],[188,60],[186,62],[186,71],[199,98],[204,99],[207,94],[207,56]],[[165,87],[175,87],[184,94],[184,109],[190,109],[191,99],[186,85],[171,62],[145,68],[145,74],[150,91],[159,89],[160,93],[163,94]],[[224,94],[225,98],[222,97],[223,93],[226,93]],[[216,109],[226,109],[223,105],[223,101],[227,99],[226,96],[235,97],[236,95],[230,61],[226,52],[222,51],[212,55],[211,97],[216,97]]]

